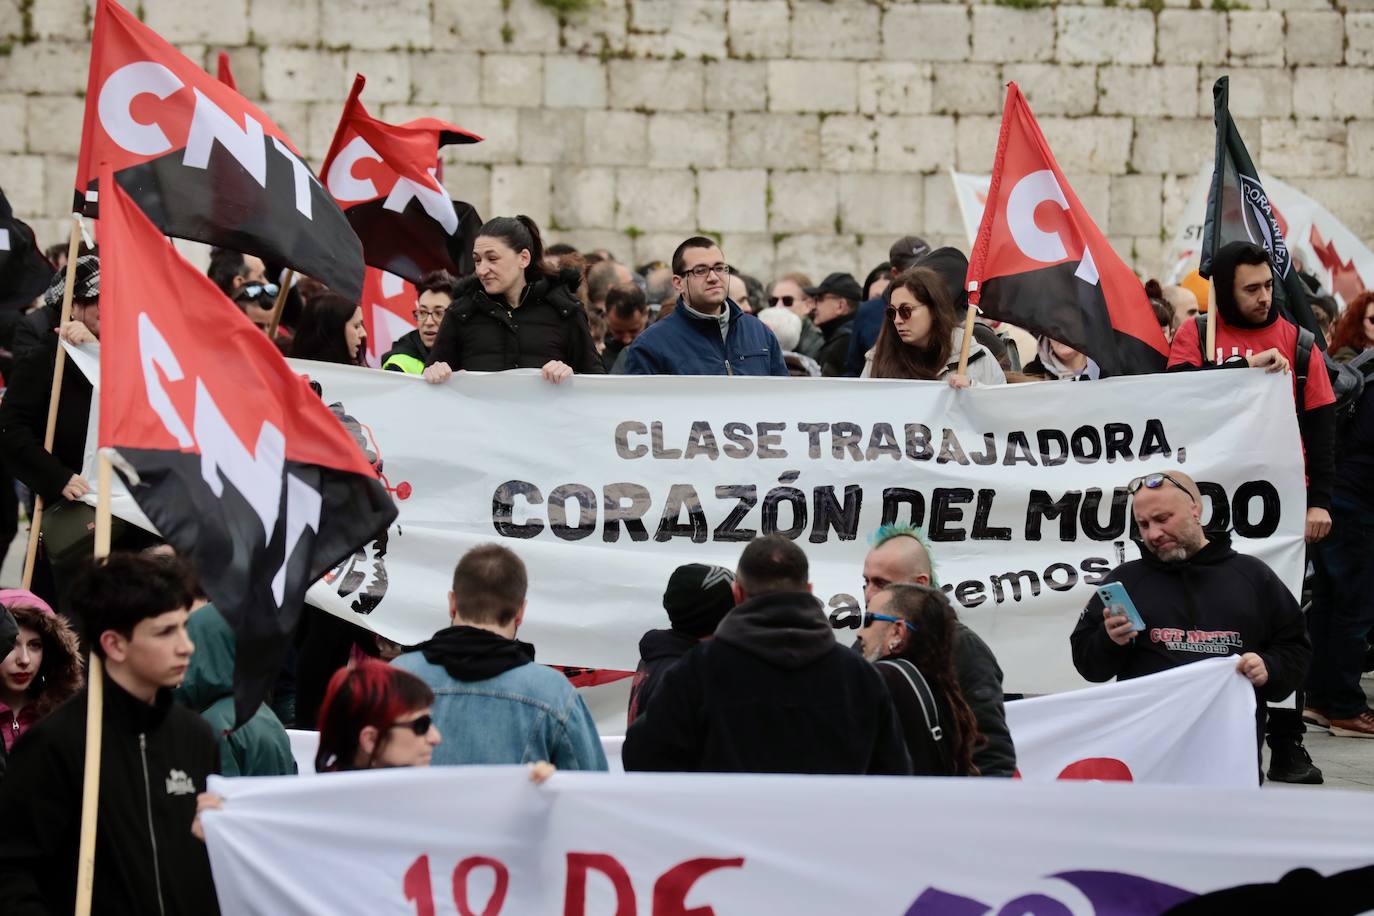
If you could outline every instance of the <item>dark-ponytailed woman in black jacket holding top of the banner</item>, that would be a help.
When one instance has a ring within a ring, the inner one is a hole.
[[[545,264],[533,220],[488,220],[473,242],[473,261],[475,272],[458,284],[444,314],[426,382],[464,369],[540,369],[554,383],[574,372],[605,372],[577,299],[581,276]]]

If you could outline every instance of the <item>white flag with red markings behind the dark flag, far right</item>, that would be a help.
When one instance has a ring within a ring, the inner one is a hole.
[[[1348,304],[1363,290],[1374,288],[1374,251],[1344,222],[1312,198],[1271,174],[1261,172],[1260,181],[1264,183],[1264,192],[1283,227],[1289,251],[1304,271],[1316,276],[1342,304]],[[1178,283],[1198,266],[1210,184],[1212,166],[1204,166],[1193,183],[1187,207],[1165,254],[1165,283]]]

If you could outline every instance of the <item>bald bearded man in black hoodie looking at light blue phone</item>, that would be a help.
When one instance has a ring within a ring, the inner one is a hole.
[[[1235,670],[1260,700],[1259,742],[1264,700],[1281,700],[1301,687],[1312,658],[1297,600],[1263,560],[1238,553],[1230,533],[1204,531],[1202,494],[1187,474],[1146,474],[1127,492],[1140,529],[1140,559],[1103,581],[1125,586],[1146,632],[1094,595],[1069,636],[1073,666],[1090,681],[1120,681],[1235,655]],[[1308,781],[1319,783],[1320,772]]]

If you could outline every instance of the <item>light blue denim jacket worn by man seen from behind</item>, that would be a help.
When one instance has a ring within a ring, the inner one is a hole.
[[[460,681],[420,652],[392,663],[434,691],[434,725],[444,737],[434,766],[548,761],[558,769],[606,769],[587,705],[551,667],[530,662],[485,681]]]

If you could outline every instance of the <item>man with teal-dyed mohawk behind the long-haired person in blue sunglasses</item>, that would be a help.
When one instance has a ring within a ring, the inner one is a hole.
[[[921,540],[921,533],[908,525],[885,525],[878,529],[863,560],[863,600],[867,607],[871,608],[882,589],[889,585],[938,588],[930,552]],[[866,626],[870,623],[867,617],[863,623]],[[892,636],[888,632],[890,629],[892,625],[879,625],[870,636],[872,639]],[[982,776],[1010,777],[1017,769],[1017,748],[1011,740],[1011,729],[1007,728],[1002,667],[982,637],[962,621],[955,621],[954,629],[954,673],[959,678],[959,692],[973,710],[978,733],[987,739],[973,748],[973,762]]]

